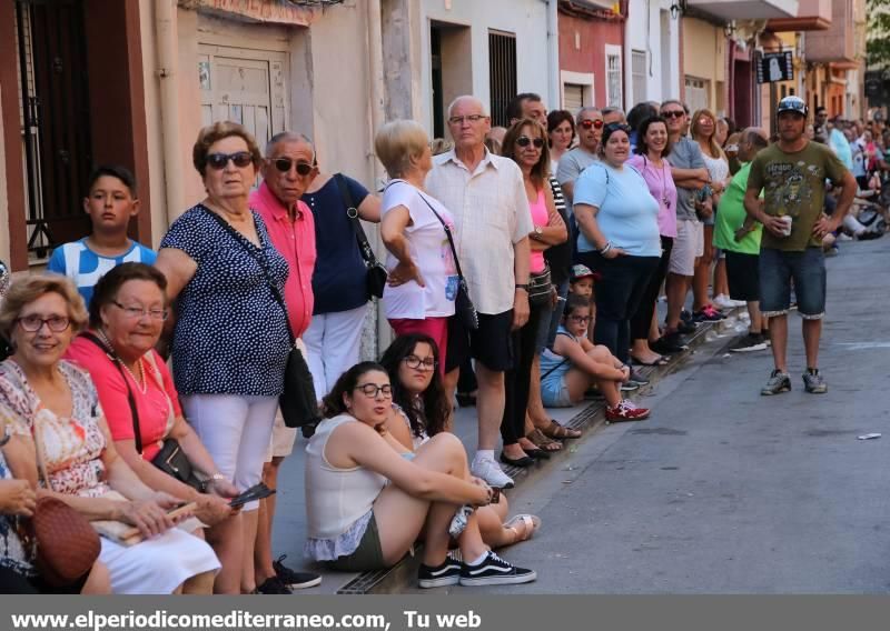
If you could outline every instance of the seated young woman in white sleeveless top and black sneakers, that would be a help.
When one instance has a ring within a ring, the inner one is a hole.
[[[421,361],[423,364],[423,359]],[[515,584],[535,580],[492,552],[475,511],[495,497],[471,477],[466,451],[442,432],[412,460],[387,431],[393,385],[386,370],[362,362],[323,402],[323,420],[306,447],[307,557],[347,572],[396,564],[423,535],[421,588]],[[464,562],[447,555],[456,534]]]

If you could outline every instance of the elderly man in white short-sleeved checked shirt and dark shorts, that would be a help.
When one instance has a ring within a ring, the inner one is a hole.
[[[494,448],[504,415],[504,371],[513,362],[510,334],[528,320],[528,233],[534,226],[522,171],[485,148],[491,126],[482,101],[455,99],[448,106],[455,148],[436,156],[426,187],[454,216],[461,268],[479,313],[479,329],[473,332],[451,319],[446,388],[453,395],[459,367],[472,355],[479,430],[471,470],[492,487],[511,488],[513,480],[495,461]]]

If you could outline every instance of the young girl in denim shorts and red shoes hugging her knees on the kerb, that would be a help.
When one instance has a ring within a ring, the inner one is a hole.
[[[553,347],[541,354],[541,398],[547,408],[571,408],[584,400],[584,392],[596,385],[605,397],[606,420],[642,421],[649,410],[621,398],[621,384],[630,369],[604,345],[587,340],[591,322],[589,298],[568,294],[563,322]]]

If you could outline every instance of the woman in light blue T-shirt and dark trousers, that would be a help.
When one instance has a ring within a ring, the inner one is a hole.
[[[630,158],[631,129],[603,128],[601,162],[578,178],[575,218],[578,259],[601,274],[596,283],[596,324],[593,337],[629,364],[630,320],[636,312],[661,258],[659,202]],[[645,383],[631,373],[631,379]]]

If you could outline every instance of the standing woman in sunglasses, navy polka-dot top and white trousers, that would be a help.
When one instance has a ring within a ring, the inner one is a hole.
[[[201,129],[192,162],[207,197],[174,221],[156,267],[176,300],[172,368],[186,418],[219,473],[239,491],[259,483],[290,352],[281,299],[287,261],[248,204],[261,157],[244,127]],[[251,592],[257,502],[234,517],[241,532],[216,590]],[[240,575],[240,585],[238,584]]]

